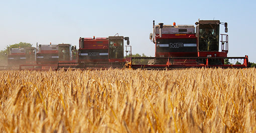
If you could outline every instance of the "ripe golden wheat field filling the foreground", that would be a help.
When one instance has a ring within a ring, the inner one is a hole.
[[[254,68],[0,75],[0,132],[256,132]]]

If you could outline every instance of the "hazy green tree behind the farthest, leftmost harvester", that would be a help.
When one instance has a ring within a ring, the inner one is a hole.
[[[1,61],[0,65],[7,65],[7,56],[10,52],[8,50],[10,50],[11,48],[27,48],[27,47],[32,47],[32,44],[20,42],[18,44],[6,46],[4,50],[0,51],[0,61]]]

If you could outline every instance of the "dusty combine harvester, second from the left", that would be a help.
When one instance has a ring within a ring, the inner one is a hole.
[[[74,53],[73,53],[74,52]],[[20,70],[49,70],[56,69],[59,62],[77,62],[77,59],[72,55],[76,55],[75,46],[70,44],[44,45],[37,44],[36,63],[22,64]]]

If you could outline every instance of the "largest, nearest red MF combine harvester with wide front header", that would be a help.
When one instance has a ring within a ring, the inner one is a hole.
[[[151,41],[155,44],[155,57],[132,58],[132,68],[189,68],[189,67],[248,67],[248,56],[227,57],[228,35],[220,34],[219,25],[227,23],[220,21],[196,22],[196,33],[193,25],[164,25],[155,26]],[[221,51],[219,52],[219,40]],[[225,60],[243,60],[241,65],[224,64]]]

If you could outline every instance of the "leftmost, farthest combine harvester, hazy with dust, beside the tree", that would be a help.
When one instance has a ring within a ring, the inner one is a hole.
[[[19,65],[22,64],[36,64],[36,48],[11,48],[9,50],[9,69],[19,69]]]

